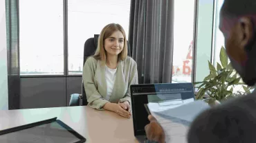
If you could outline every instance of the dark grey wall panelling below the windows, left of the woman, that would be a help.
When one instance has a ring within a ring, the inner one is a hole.
[[[82,77],[21,77],[20,109],[66,107],[82,93]]]

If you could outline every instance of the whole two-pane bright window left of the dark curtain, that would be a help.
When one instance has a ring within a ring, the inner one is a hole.
[[[122,25],[128,37],[130,0],[67,2],[19,1],[21,76],[82,74],[84,42],[109,23]]]

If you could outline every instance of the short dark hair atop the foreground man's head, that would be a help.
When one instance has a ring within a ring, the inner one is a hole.
[[[256,15],[255,0],[224,0],[221,14],[225,17],[239,17],[245,15]]]

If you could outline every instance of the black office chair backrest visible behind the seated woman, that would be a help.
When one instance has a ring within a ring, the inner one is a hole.
[[[97,49],[99,34],[94,34],[94,37],[87,39],[84,43],[84,63],[89,56],[93,56]],[[127,41],[128,56],[131,56],[130,46]],[[83,63],[83,65],[84,65]],[[82,105],[87,105],[87,98],[84,90],[84,82],[82,82]]]

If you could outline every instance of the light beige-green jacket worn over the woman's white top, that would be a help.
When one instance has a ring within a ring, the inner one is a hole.
[[[130,85],[138,84],[137,64],[131,57],[118,62],[116,81],[109,101],[105,78],[105,62],[89,57],[84,63],[82,79],[88,105],[94,109],[103,110],[107,102],[118,103],[129,101],[131,103]]]

